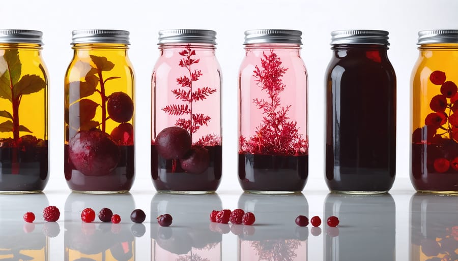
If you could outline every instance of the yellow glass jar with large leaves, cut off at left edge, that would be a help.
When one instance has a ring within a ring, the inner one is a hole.
[[[48,79],[41,31],[0,30],[0,193],[48,182]]]

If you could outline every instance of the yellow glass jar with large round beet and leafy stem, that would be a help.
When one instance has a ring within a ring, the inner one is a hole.
[[[65,179],[73,191],[126,192],[134,180],[134,73],[129,32],[72,32],[65,76]]]

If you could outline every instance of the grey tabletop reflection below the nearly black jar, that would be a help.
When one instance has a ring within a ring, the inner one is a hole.
[[[329,227],[323,220],[325,260],[395,260],[396,206],[390,194],[330,193],[324,218],[329,216],[340,224]]]

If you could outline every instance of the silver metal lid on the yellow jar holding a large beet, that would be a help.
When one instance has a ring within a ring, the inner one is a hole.
[[[129,31],[125,30],[74,30],[72,44],[130,44]]]

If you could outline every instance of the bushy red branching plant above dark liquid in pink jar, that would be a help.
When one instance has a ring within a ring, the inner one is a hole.
[[[253,104],[265,116],[256,127],[254,136],[247,140],[240,137],[241,153],[302,155],[308,152],[308,141],[299,134],[297,122],[290,120],[288,112],[291,105],[282,106],[280,93],[286,85],[282,77],[288,68],[281,66],[281,60],[273,50],[269,55],[263,53],[261,68],[255,67],[253,77],[256,85],[268,94],[268,99],[253,99]]]

